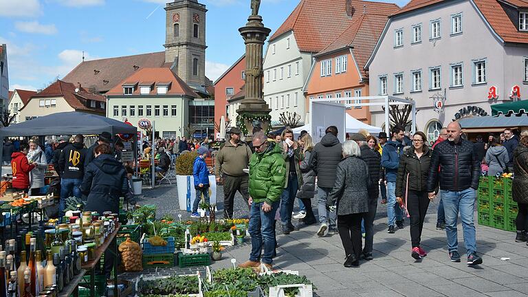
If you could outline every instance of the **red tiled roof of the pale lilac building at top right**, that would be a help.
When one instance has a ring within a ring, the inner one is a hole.
[[[440,3],[445,0],[411,0],[401,10],[398,10],[393,16],[424,8],[429,5]],[[528,43],[528,32],[519,32],[517,23],[514,23],[507,16],[504,8],[498,0],[472,0],[478,10],[481,11],[486,21],[492,26],[492,29],[505,42],[511,43]],[[524,0],[504,0],[518,8],[527,8],[528,2]]]

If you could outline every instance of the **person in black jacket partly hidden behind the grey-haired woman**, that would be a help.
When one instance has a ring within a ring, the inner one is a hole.
[[[377,151],[369,148],[366,144],[366,137],[360,133],[353,133],[351,140],[358,142],[361,150],[360,159],[362,159],[369,168],[369,177],[371,179],[371,187],[369,188],[369,212],[363,216],[365,226],[365,245],[363,248],[363,256],[365,260],[372,260],[372,245],[374,242],[374,218],[377,210],[377,197],[380,195],[380,179],[382,175],[382,156]]]

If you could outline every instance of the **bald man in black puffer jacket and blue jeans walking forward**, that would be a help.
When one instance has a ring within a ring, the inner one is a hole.
[[[476,254],[476,235],[473,222],[476,189],[481,175],[480,162],[472,142],[461,137],[459,122],[448,125],[448,140],[434,147],[427,179],[429,199],[434,198],[434,188],[440,179],[440,193],[445,210],[445,233],[448,236],[448,250],[452,262],[460,262],[456,237],[456,219],[462,220],[464,244],[467,250],[467,264],[482,263]],[[440,171],[438,170],[440,166]],[[440,175],[440,178],[438,178]]]

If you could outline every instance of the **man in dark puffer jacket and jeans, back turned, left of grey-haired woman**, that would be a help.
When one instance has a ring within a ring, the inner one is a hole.
[[[336,170],[343,157],[341,143],[338,140],[338,127],[329,126],[326,135],[314,146],[310,156],[311,168],[317,173],[319,195],[317,197],[319,223],[318,236],[336,234],[336,212],[327,211],[327,199],[336,182]]]

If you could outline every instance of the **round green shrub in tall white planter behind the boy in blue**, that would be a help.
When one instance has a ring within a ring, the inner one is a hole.
[[[176,158],[175,171],[178,188],[178,202],[180,210],[192,211],[192,202],[195,201],[195,179],[192,177],[192,164],[198,153],[182,153]],[[214,175],[209,175],[209,201],[211,205],[217,203],[217,182]]]

